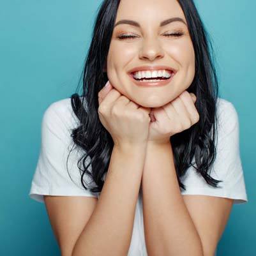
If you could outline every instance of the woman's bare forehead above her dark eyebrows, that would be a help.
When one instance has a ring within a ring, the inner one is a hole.
[[[185,20],[177,0],[121,0],[116,21],[132,19],[143,26],[143,24],[160,24],[162,20],[171,17],[181,17]]]

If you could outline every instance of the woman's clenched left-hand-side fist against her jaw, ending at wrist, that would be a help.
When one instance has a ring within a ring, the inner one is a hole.
[[[98,93],[98,115],[114,144],[147,144],[150,108],[144,108],[119,93],[108,81]]]

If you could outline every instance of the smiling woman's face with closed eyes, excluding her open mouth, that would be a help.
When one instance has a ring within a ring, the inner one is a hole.
[[[185,24],[174,21],[160,26],[174,17]],[[117,24],[121,20],[133,20],[140,27]],[[190,86],[195,75],[195,54],[183,10],[176,0],[121,0],[115,24],[107,75],[117,91],[142,107],[161,107]],[[134,37],[119,38],[123,35]],[[138,86],[130,76],[133,68],[162,65],[177,71],[165,86]]]

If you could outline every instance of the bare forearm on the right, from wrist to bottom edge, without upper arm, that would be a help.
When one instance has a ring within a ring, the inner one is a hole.
[[[142,195],[149,256],[203,255],[199,234],[179,190],[170,143],[147,144]]]

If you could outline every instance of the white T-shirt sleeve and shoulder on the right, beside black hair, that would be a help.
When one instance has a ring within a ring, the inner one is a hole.
[[[234,199],[234,204],[248,202],[243,166],[239,151],[239,119],[234,105],[218,98],[218,138],[216,158],[210,170],[210,176],[222,180],[220,188],[206,183],[204,177],[189,167],[181,181],[186,186],[182,195],[211,195]],[[193,158],[193,161],[195,158]]]

